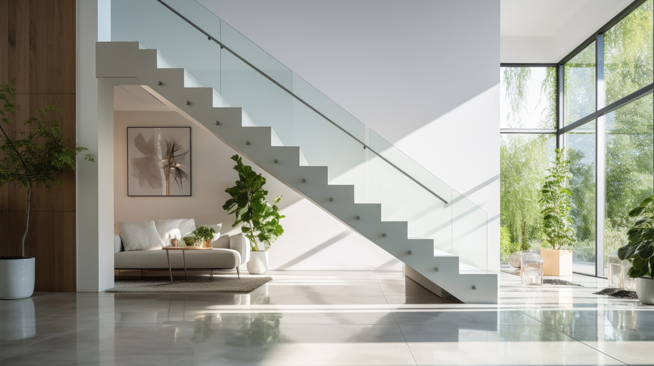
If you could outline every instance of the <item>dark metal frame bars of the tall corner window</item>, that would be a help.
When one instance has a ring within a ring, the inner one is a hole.
[[[500,63],[500,67],[556,67],[557,73],[557,129],[502,129],[502,133],[530,133],[530,134],[556,134],[557,148],[565,146],[565,133],[577,127],[596,121],[595,124],[595,274],[590,276],[606,278],[604,273],[604,219],[606,216],[606,141],[605,141],[605,116],[617,108],[623,107],[632,101],[636,101],[654,91],[654,83],[650,83],[635,92],[605,105],[604,91],[604,33],[611,29],[623,18],[631,14],[636,8],[643,5],[647,0],[636,0],[628,7],[614,16],[608,23],[581,42],[569,54],[560,59],[557,63]],[[595,42],[595,110],[568,125],[564,120],[564,65],[574,58],[579,52]],[[654,133],[654,131],[653,131]],[[587,273],[574,272],[579,275]]]

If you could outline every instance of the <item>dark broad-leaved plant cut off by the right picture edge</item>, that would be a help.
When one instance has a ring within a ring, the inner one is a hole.
[[[629,211],[632,218],[640,218],[628,229],[628,244],[617,250],[620,259],[628,259],[632,267],[631,278],[651,277],[654,274],[654,195],[645,198],[638,207]]]

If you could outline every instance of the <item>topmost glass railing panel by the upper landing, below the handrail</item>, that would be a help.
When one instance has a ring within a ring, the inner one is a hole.
[[[182,1],[169,3],[181,5]],[[186,15],[202,19],[200,11],[190,7]],[[112,0],[111,40],[139,41],[145,48],[156,48],[174,65],[184,67],[202,86],[220,92],[220,46],[158,1]]]

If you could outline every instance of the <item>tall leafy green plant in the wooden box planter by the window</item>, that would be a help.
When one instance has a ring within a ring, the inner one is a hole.
[[[541,211],[543,215],[543,246],[559,250],[572,246],[577,241],[572,228],[574,223],[568,216],[572,209],[572,192],[567,188],[570,174],[570,160],[564,158],[564,148],[555,150],[557,157],[547,171],[545,183],[540,191]]]

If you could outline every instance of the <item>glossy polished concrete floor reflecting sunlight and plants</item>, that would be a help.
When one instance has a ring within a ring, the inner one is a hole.
[[[652,365],[654,307],[585,287],[499,305],[443,300],[398,272],[273,271],[247,295],[35,293],[0,301],[0,365]]]

